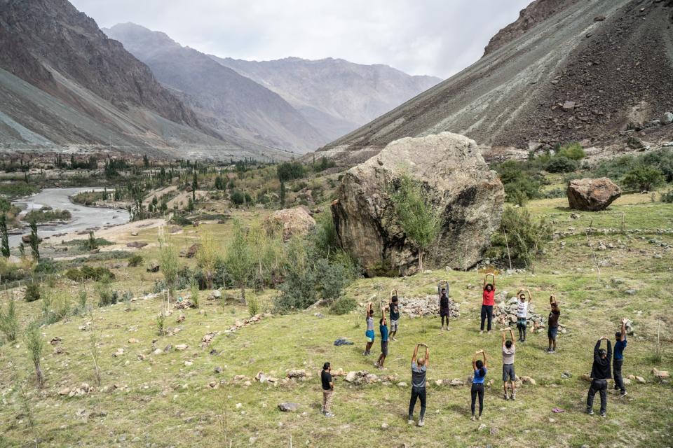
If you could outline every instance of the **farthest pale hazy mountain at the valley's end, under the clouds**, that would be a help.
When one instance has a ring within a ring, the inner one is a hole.
[[[387,65],[354,64],[331,57],[261,62],[212,58],[280,94],[330,139],[357,129],[441,81],[433,76],[410,76]]]

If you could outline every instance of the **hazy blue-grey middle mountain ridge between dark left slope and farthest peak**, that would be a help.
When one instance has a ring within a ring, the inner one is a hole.
[[[166,34],[126,23],[105,29],[154,76],[225,135],[306,153],[328,140],[275,92]]]

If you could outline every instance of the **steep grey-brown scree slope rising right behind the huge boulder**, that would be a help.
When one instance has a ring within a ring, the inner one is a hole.
[[[673,1],[529,8],[475,64],[319,151],[352,165],[390,141],[444,131],[526,150],[597,144],[673,109]],[[673,137],[671,126],[660,130]]]

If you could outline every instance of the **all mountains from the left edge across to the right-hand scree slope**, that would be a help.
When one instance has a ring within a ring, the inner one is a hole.
[[[0,149],[290,158],[437,82],[335,59],[217,59],[132,24],[107,33],[67,0],[0,0]]]

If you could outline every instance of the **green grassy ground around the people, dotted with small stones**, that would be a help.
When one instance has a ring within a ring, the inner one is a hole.
[[[443,269],[404,279],[360,279],[346,294],[364,304],[376,300],[377,289],[387,297],[391,288],[400,295],[434,294],[437,281],[451,281],[451,298],[461,303],[461,317],[451,322],[451,332],[440,333],[438,318],[406,318],[400,325],[399,341],[390,343],[390,354],[383,374],[394,374],[399,381],[409,383],[409,359],[414,344],[427,342],[430,346],[428,370],[428,411],[426,426],[407,426],[406,412],[409,388],[395,385],[351,386],[337,379],[334,395],[334,419],[320,415],[320,385],[318,370],[325,361],[334,370],[369,370],[379,374],[372,358],[364,358],[365,323],[362,308],[352,314],[332,316],[327,309],[306,311],[287,316],[264,318],[231,335],[219,334],[206,349],[200,349],[200,339],[209,331],[221,332],[236,320],[247,317],[242,304],[228,304],[224,312],[219,303],[205,299],[202,293],[201,310],[175,310],[169,318],[169,328],[182,328],[174,336],[156,334],[156,314],[161,307],[158,299],[139,300],[132,311],[125,311],[125,304],[94,309],[93,316],[74,316],[69,321],[55,323],[41,330],[48,341],[58,336],[66,353],[53,353],[48,345],[43,358],[46,388],[36,391],[33,386],[32,365],[24,343],[0,346],[0,446],[30,444],[38,437],[45,446],[67,446],[74,440],[89,446],[145,446],[157,447],[222,447],[225,437],[233,440],[234,447],[249,446],[255,437],[255,446],[283,447],[493,447],[552,446],[552,447],[660,447],[669,444],[672,435],[673,399],[671,384],[658,384],[651,374],[652,367],[673,370],[671,351],[671,325],[669,309],[673,304],[669,283],[673,279],[672,249],[649,242],[654,238],[673,244],[673,235],[658,235],[656,229],[671,228],[673,205],[651,203],[641,195],[626,195],[604,212],[582,213],[571,219],[571,211],[564,209],[564,200],[541,200],[529,203],[533,214],[552,216],[556,230],[576,229],[576,234],[550,243],[547,254],[536,266],[536,275],[516,274],[498,276],[497,290],[507,290],[512,295],[517,288],[526,286],[533,293],[536,312],[548,312],[548,297],[555,293],[559,299],[561,323],[568,326],[565,335],[559,335],[559,351],[548,355],[546,333],[532,334],[529,342],[519,344],[516,369],[519,375],[536,379],[537,386],[524,385],[517,393],[516,402],[505,402],[500,379],[500,325],[494,334],[480,335],[478,316],[480,310],[480,283],[482,273],[444,272]],[[598,241],[612,243],[615,248],[597,252],[599,260],[609,265],[594,266],[592,253],[586,244],[584,228],[593,218],[594,228],[619,228],[616,222],[625,214],[627,229],[645,230],[633,235],[590,236],[594,248]],[[243,214],[254,218],[254,214]],[[203,228],[214,232],[217,241],[224,244],[231,223],[201,225],[186,228],[176,235],[179,246],[191,244]],[[641,239],[644,236],[645,239]],[[630,237],[630,238],[629,238]],[[134,239],[153,242],[156,230],[142,231]],[[184,240],[184,241],[183,241]],[[619,248],[618,240],[623,248]],[[562,245],[561,242],[565,244]],[[140,253],[146,260],[156,257],[156,248],[148,246]],[[653,258],[660,254],[662,258]],[[193,260],[183,262],[192,263]],[[98,262],[107,267],[114,261]],[[144,267],[113,269],[116,290],[132,290],[136,297],[151,290],[155,278],[161,274],[144,272]],[[612,279],[622,279],[616,284]],[[60,280],[60,290],[69,291],[76,300],[80,285]],[[93,283],[87,285],[89,302],[97,302]],[[636,289],[628,295],[627,289]],[[184,293],[184,292],[183,292]],[[226,291],[238,297],[235,290]],[[261,309],[271,306],[275,291],[258,293]],[[5,302],[1,298],[0,302]],[[232,302],[232,303],[235,303]],[[17,302],[22,325],[39,314],[40,302]],[[324,317],[315,316],[315,312]],[[177,316],[186,316],[183,323],[176,323]],[[662,335],[665,339],[664,357],[652,363],[651,353],[655,344],[656,322],[662,315]],[[627,398],[618,400],[610,394],[608,418],[583,414],[587,383],[580,376],[589,372],[592,348],[598,337],[613,339],[618,320],[632,318],[636,335],[630,337],[624,372],[647,379],[647,384],[632,384]],[[57,394],[61,388],[78,386],[82,382],[94,384],[93,363],[88,353],[90,332],[79,330],[83,323],[93,322],[100,331],[100,367],[102,385],[116,384],[116,391],[97,391],[83,398],[64,398]],[[353,346],[334,346],[337,337],[348,337]],[[378,335],[377,335],[378,337]],[[131,344],[130,338],[140,342]],[[152,339],[163,349],[168,344],[189,344],[186,351],[151,354]],[[114,358],[118,348],[125,355]],[[210,350],[217,353],[210,355]],[[373,352],[377,354],[379,341]],[[470,374],[470,360],[477,349],[489,354],[489,374],[494,386],[487,388],[485,411],[482,421],[471,422],[470,391],[468,386],[437,387],[435,379],[465,379]],[[142,353],[145,360],[138,360]],[[185,360],[193,360],[187,367]],[[16,365],[14,369],[11,365]],[[224,372],[215,373],[221,366]],[[273,387],[253,381],[252,386],[233,384],[237,374],[254,377],[266,372],[284,377],[288,369],[304,368],[311,372],[308,381],[290,382]],[[562,379],[569,371],[571,379]],[[210,381],[225,379],[227,384],[210,388]],[[18,384],[23,384],[29,394],[29,405],[34,414],[34,430],[27,427],[22,411]],[[281,413],[280,402],[298,402],[299,412]],[[237,404],[240,403],[240,407]],[[551,409],[560,407],[566,412],[553,414]],[[223,425],[223,409],[226,427]],[[104,416],[88,416],[102,410]],[[416,409],[416,416],[418,408]],[[554,421],[551,421],[553,419]],[[381,429],[388,423],[387,430]],[[485,430],[477,430],[484,423]],[[494,434],[489,428],[496,428]],[[124,441],[121,441],[121,438]],[[135,440],[135,437],[138,437]],[[135,441],[134,441],[135,440]]]

